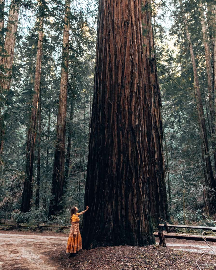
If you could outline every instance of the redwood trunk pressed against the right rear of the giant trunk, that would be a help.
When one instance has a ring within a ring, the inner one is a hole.
[[[148,141],[149,200],[151,216],[157,226],[160,221],[158,220],[159,217],[170,222],[170,215],[165,184],[162,105],[154,56],[150,0],[143,0],[143,44],[144,88],[146,92],[144,119]]]

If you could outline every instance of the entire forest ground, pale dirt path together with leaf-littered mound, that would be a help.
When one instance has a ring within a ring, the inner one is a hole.
[[[70,258],[67,239],[64,233],[0,231],[0,270],[216,269],[216,243],[210,249],[205,242],[166,239],[168,248],[101,247]]]

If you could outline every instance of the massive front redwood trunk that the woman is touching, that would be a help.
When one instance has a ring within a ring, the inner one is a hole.
[[[99,0],[84,248],[154,242],[147,187],[141,0]]]

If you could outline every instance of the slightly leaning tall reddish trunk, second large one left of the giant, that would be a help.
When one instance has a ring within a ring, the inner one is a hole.
[[[30,210],[30,194],[32,192],[32,172],[34,163],[36,123],[38,116],[38,99],[39,99],[40,78],[41,78],[42,45],[43,45],[43,16],[40,16],[39,30],[38,30],[38,51],[36,56],[35,85],[34,85],[34,91],[36,94],[33,95],[31,119],[29,123],[29,131],[27,138],[25,181],[21,203],[22,212],[28,212]]]

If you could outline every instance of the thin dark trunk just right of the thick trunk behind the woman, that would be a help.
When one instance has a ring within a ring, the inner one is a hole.
[[[72,121],[73,121],[73,110],[74,110],[74,100],[71,101],[71,107],[70,107],[70,123],[69,123],[69,130],[68,130],[68,146],[67,146],[67,153],[66,153],[66,161],[65,161],[65,178],[63,183],[63,193],[65,194],[67,192],[68,188],[68,172],[69,172],[69,166],[70,166],[70,145],[71,145],[71,139],[72,139]]]

